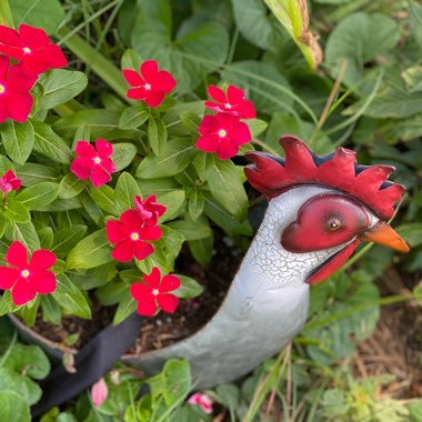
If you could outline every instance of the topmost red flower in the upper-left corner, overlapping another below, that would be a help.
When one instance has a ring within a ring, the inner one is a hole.
[[[28,74],[38,76],[68,64],[60,47],[53,44],[42,29],[23,23],[18,32],[0,26],[0,52],[19,60],[22,71]]]

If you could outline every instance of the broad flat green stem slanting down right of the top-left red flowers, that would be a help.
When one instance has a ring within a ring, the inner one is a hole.
[[[120,70],[81,37],[69,36],[70,33],[70,29],[66,27],[59,31],[59,36],[62,37],[62,41],[69,50],[89,66],[117,94],[128,101],[125,96],[128,87]]]

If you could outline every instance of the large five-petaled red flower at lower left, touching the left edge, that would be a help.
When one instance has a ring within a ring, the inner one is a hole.
[[[11,267],[0,267],[0,289],[11,290],[16,305],[31,301],[37,293],[48,294],[56,290],[56,275],[48,271],[56,262],[54,253],[39,249],[28,263],[24,245],[14,241],[4,257]]]

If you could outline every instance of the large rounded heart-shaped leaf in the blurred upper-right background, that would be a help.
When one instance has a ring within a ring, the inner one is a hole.
[[[334,28],[328,39],[325,66],[338,76],[341,63],[346,61],[343,82],[353,86],[363,78],[365,63],[388,53],[399,39],[399,26],[385,14],[350,14]]]

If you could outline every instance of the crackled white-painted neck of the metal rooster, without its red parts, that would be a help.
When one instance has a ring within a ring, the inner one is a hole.
[[[281,247],[284,228],[320,193],[339,192],[303,185],[273,199],[215,315],[190,338],[131,362],[153,373],[165,359],[187,358],[203,389],[230,382],[281,350],[305,322],[308,274],[345,245],[308,253]]]

